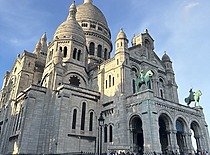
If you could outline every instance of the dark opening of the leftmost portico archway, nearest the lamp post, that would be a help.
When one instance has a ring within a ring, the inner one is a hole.
[[[131,118],[130,129],[133,151],[143,154],[144,135],[142,129],[142,121],[139,116],[134,116]]]

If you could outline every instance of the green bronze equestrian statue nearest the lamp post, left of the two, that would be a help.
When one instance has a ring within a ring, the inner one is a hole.
[[[142,84],[146,85],[147,89],[150,89],[150,79],[153,76],[153,72],[151,70],[148,70],[146,74],[143,73],[143,70],[141,70],[139,76],[136,79],[136,86],[137,90],[139,91]]]

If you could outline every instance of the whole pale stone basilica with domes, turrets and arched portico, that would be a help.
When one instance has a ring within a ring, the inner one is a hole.
[[[210,151],[202,107],[179,103],[172,60],[147,29],[128,47],[92,0],[66,12],[4,76],[0,154]]]

